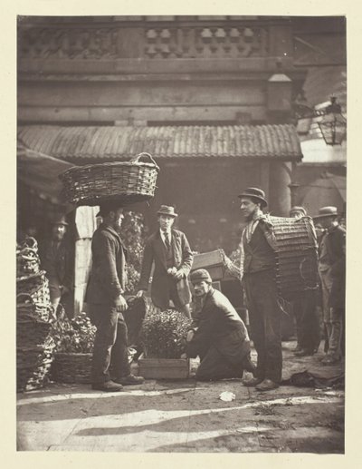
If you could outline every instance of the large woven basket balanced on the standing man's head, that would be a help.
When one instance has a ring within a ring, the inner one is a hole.
[[[139,161],[148,157],[148,162]],[[130,161],[76,166],[63,172],[62,197],[77,205],[99,205],[117,200],[133,203],[155,194],[159,168],[149,153],[140,153]]]

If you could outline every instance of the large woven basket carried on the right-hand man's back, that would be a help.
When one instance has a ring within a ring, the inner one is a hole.
[[[270,217],[277,241],[277,287],[292,300],[318,287],[317,237],[310,217]]]

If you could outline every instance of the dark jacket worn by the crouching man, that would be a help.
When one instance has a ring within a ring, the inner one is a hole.
[[[237,365],[250,352],[250,340],[243,320],[223,293],[210,288],[204,306],[194,319],[195,336],[187,345],[187,355],[204,356],[214,346]]]

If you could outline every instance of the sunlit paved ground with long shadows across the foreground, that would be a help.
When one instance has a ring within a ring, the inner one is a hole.
[[[284,378],[303,369],[341,370],[321,366],[321,351],[295,358],[293,346],[283,343]],[[220,400],[224,391],[235,399]],[[110,394],[52,384],[18,394],[17,404],[21,451],[344,452],[344,392],[331,388],[281,386],[261,394],[238,379],[190,378],[148,380],[142,388]]]

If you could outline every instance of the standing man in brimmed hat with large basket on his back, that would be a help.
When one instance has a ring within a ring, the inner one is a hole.
[[[281,382],[281,308],[275,279],[276,239],[264,191],[248,188],[239,195],[246,226],[242,233],[242,282],[249,311],[252,341],[258,354],[254,378],[244,382],[269,391]]]

